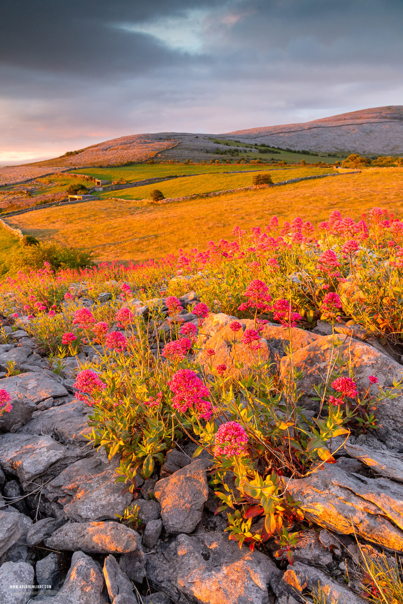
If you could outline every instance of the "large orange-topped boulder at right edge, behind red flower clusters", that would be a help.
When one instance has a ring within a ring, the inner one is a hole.
[[[335,364],[337,355],[350,364],[359,387],[369,387],[368,377],[378,377],[379,386],[392,388],[393,380],[400,381],[403,377],[401,365],[388,358],[378,350],[364,342],[359,342],[349,336],[324,336],[307,347],[297,350],[293,355],[294,368],[301,371],[302,377],[298,381],[298,388],[305,391],[303,405],[306,408],[318,411],[318,402],[312,400],[317,396],[313,387],[323,383],[329,365]],[[290,366],[290,359],[284,357],[281,361],[281,374],[286,379]],[[370,387],[370,391],[376,393],[378,385]],[[390,448],[401,448],[403,446],[403,391],[393,400],[385,399],[376,411],[379,424],[376,431],[379,439],[384,441]]]

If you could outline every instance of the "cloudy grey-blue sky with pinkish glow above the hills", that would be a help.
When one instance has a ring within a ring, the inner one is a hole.
[[[403,0],[10,0],[0,162],[403,104]]]

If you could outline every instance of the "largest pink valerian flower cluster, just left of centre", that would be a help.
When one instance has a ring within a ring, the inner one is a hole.
[[[211,402],[205,400],[210,393],[195,371],[179,370],[168,382],[168,387],[173,393],[173,409],[185,413],[192,408],[200,419],[208,420],[210,418]]]

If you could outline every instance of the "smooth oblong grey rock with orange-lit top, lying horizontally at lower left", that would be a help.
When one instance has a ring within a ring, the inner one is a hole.
[[[69,522],[44,541],[46,547],[109,554],[141,550],[141,538],[119,522]]]

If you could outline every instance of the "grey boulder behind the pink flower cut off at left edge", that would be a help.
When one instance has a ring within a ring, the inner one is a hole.
[[[62,384],[39,371],[4,377],[0,379],[0,388],[10,394],[13,405],[10,413],[4,413],[0,417],[0,430],[3,432],[29,422],[36,405],[42,400],[68,394]]]

